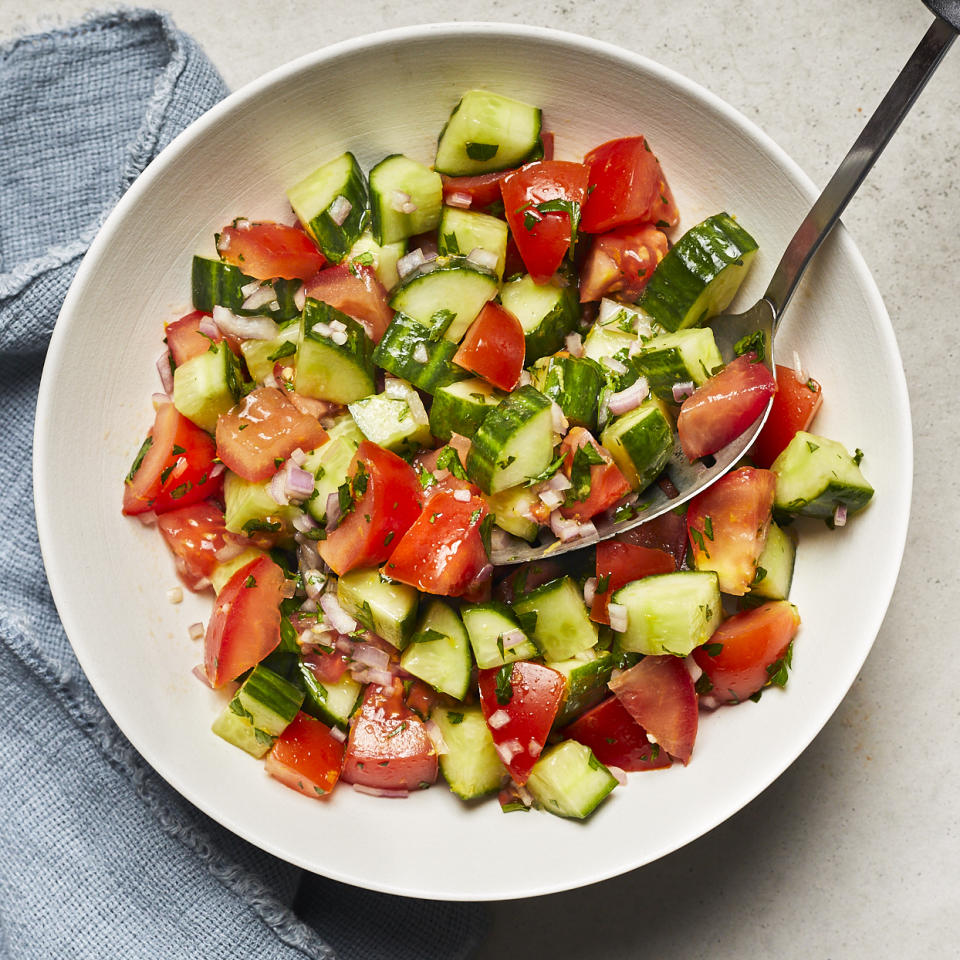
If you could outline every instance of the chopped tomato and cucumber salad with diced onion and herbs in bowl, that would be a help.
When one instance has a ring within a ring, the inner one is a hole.
[[[790,523],[840,527],[873,491],[808,431],[799,359],[720,355],[708,321],[757,242],[725,212],[680,232],[645,137],[555,159],[540,109],[471,90],[424,159],[327,158],[290,223],[240,217],[194,257],[123,512],[215,595],[190,628],[226,693],[213,732],[282,783],[442,775],[583,818],[626,772],[688,763],[702,711],[786,683]],[[771,396],[688,505],[490,563],[496,539],[629,516],[677,438],[707,457]]]

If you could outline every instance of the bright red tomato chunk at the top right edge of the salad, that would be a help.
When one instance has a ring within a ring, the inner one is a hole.
[[[673,194],[644,137],[608,140],[583,160],[593,187],[580,221],[585,233],[605,233],[626,223],[677,225]]]

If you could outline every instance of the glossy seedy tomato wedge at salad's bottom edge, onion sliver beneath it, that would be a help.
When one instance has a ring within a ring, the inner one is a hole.
[[[403,702],[403,687],[371,683],[350,727],[343,758],[345,783],[384,790],[418,790],[437,779],[437,752],[420,718]]]

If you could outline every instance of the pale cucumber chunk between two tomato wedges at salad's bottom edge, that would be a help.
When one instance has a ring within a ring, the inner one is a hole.
[[[507,770],[497,756],[490,728],[478,706],[437,707],[430,719],[447,745],[440,755],[440,772],[450,789],[473,800],[500,789]]]

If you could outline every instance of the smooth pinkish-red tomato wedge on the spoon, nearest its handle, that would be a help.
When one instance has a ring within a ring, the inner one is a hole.
[[[683,401],[677,417],[680,446],[688,460],[716,453],[763,413],[777,391],[773,374],[745,353]]]

